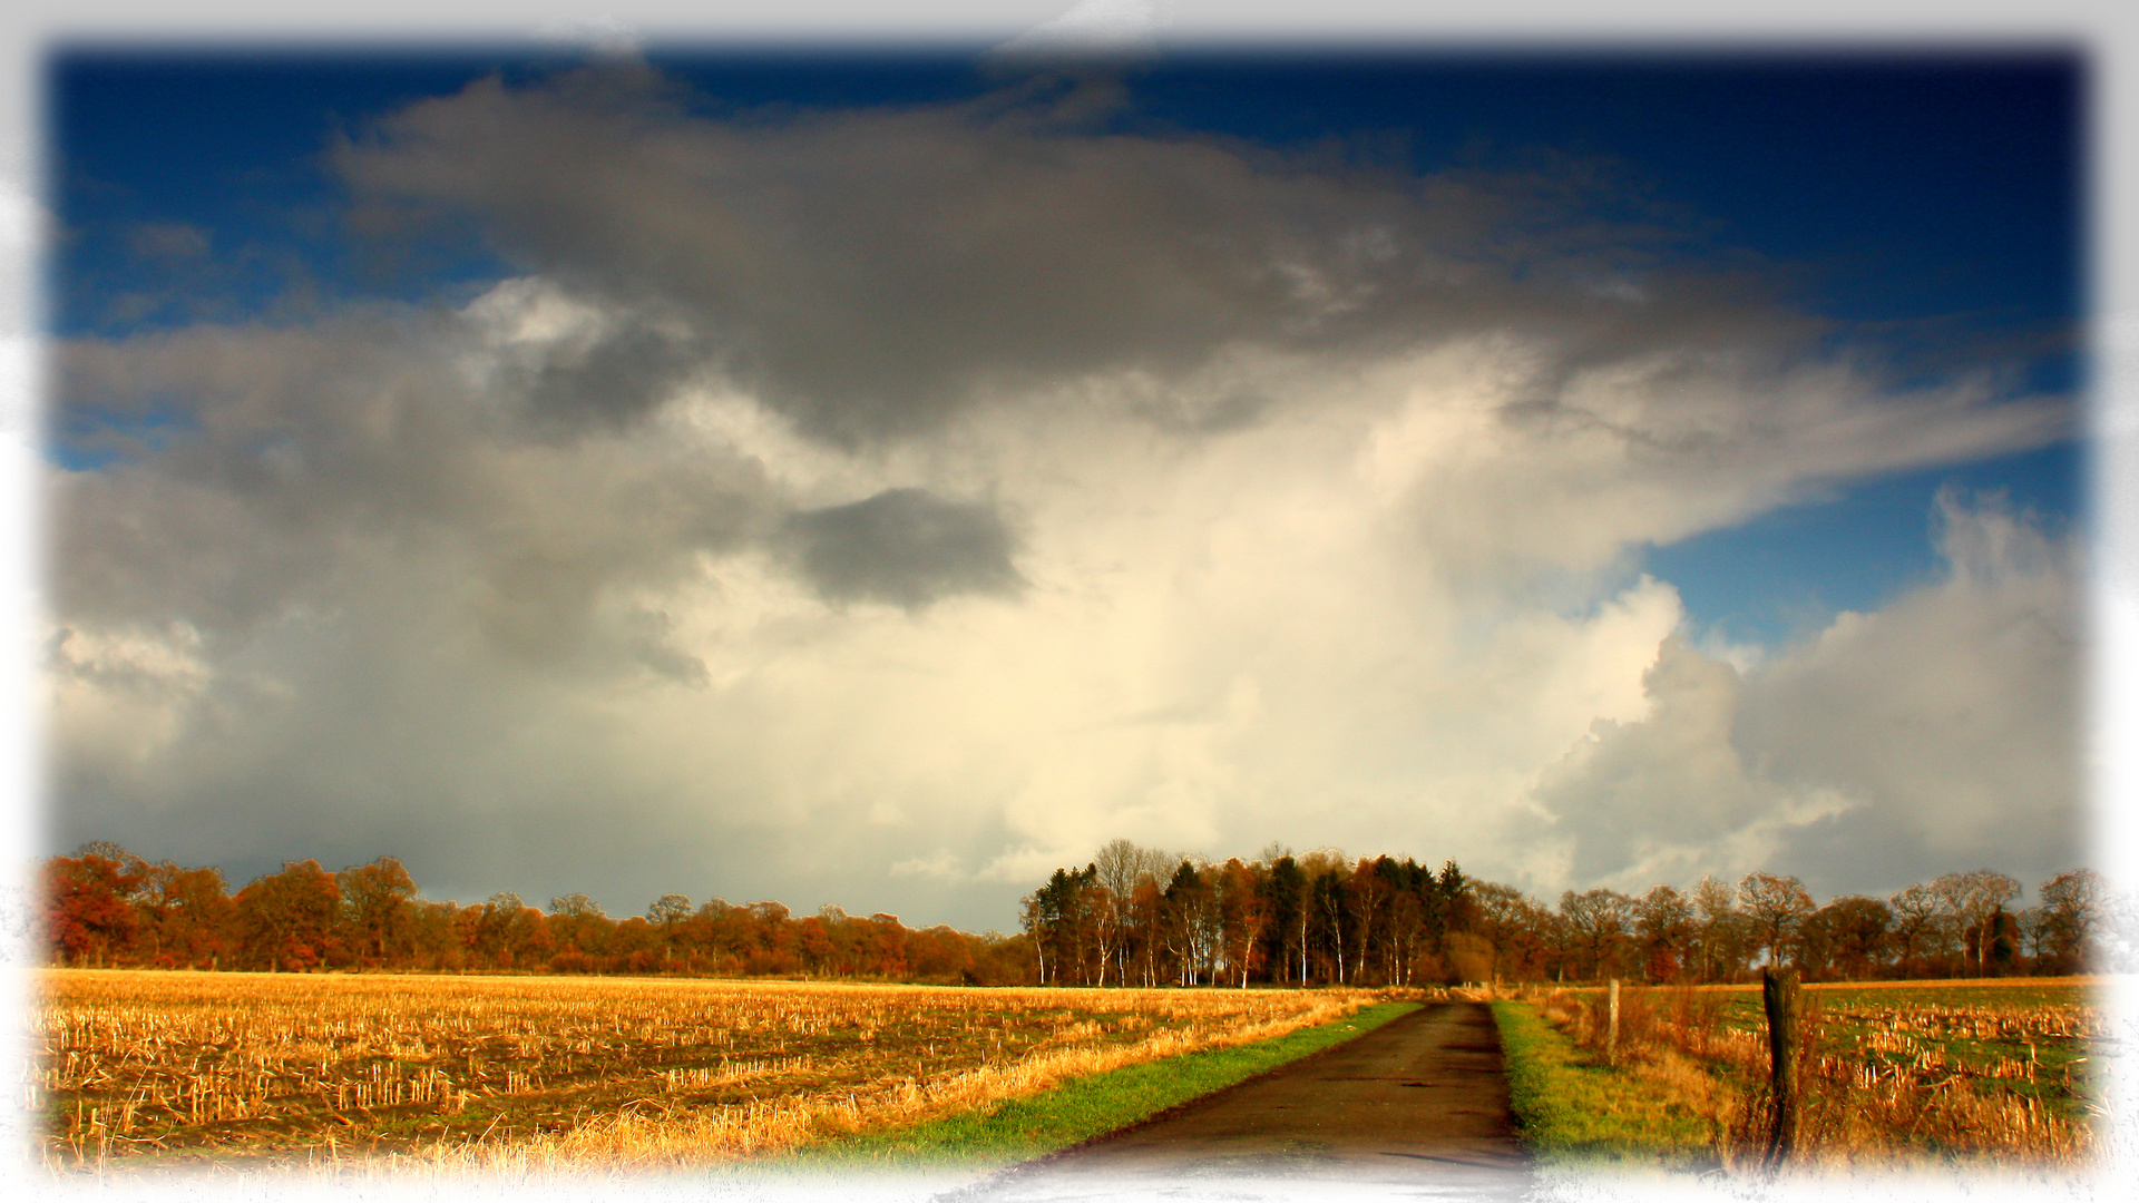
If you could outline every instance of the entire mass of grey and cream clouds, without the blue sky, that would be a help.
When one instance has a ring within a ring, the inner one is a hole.
[[[1756,672],[1628,557],[2068,407],[1893,387],[1594,184],[1132,135],[1093,88],[481,81],[338,161],[370,229],[520,274],[62,345],[56,839],[978,927],[1112,837],[2056,858],[2071,569],[2026,522],[1953,503],[1949,582]]]

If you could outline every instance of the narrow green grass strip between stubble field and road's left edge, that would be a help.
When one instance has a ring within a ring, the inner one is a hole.
[[[1149,1120],[1168,1107],[1247,1081],[1286,1062],[1363,1036],[1399,1015],[1418,1010],[1416,1002],[1382,1002],[1350,1019],[1303,1027],[1298,1032],[1238,1045],[1204,1049],[1140,1066],[1123,1066],[1055,1090],[1005,1098],[984,1109],[963,1111],[875,1132],[830,1137],[791,1152],[794,1169],[838,1169],[856,1164],[1010,1164],[1067,1149]]]

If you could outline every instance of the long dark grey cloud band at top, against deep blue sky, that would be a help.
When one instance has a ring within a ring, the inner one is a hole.
[[[1063,88],[714,120],[648,68],[486,79],[336,163],[364,225],[473,220],[573,289],[674,306],[725,370],[845,445],[1093,372],[1179,377],[1236,345],[1386,353],[1521,325],[1587,362],[1797,332],[1724,276],[1647,272],[1679,235],[1638,208],[1594,216],[1624,197],[1579,167],[1420,180],[1106,133],[1082,103],[1095,86]],[[1253,413],[1221,407],[1211,428]]]

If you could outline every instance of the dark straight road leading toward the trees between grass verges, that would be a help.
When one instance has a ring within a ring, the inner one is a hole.
[[[1493,1012],[1442,1002],[956,1199],[1521,1199],[1527,1188]]]

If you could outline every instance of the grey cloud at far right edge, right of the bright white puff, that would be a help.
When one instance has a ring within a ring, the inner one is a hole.
[[[1966,863],[2034,882],[2088,852],[2079,544],[1951,490],[1938,542],[1944,582],[1842,614],[1748,700],[1741,738],[1767,773],[1863,803],[1784,846],[1807,873]]]

